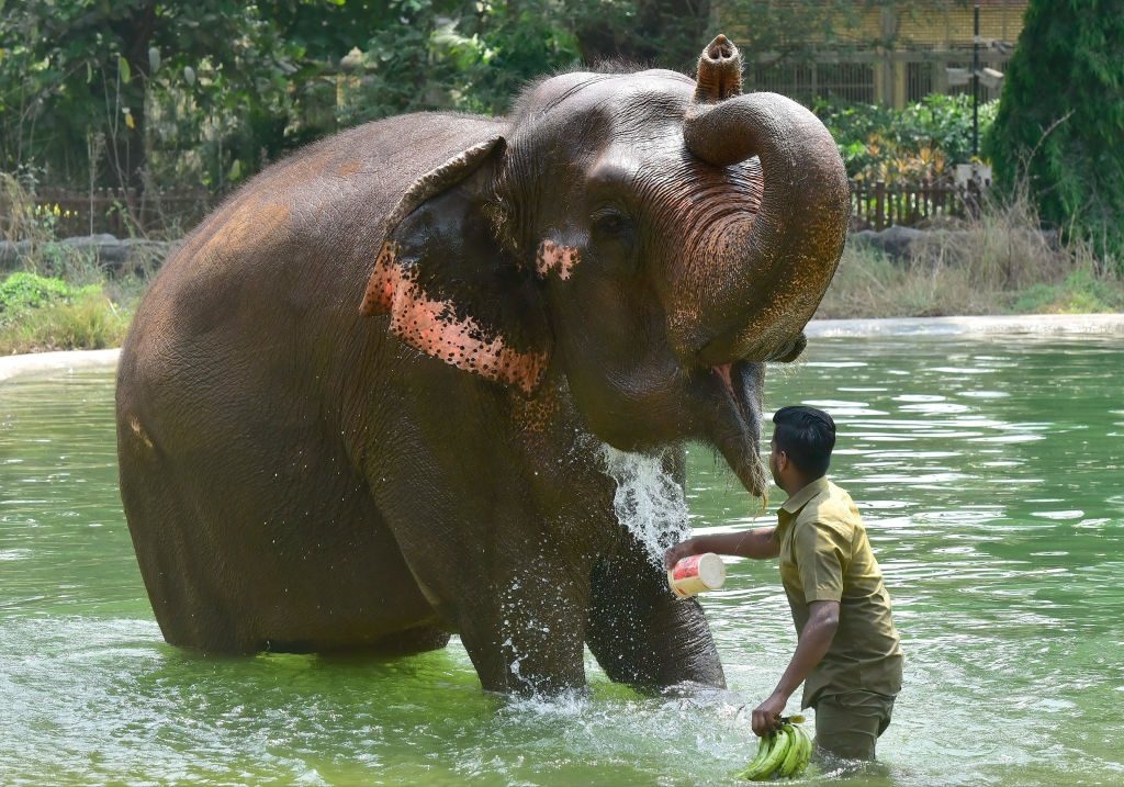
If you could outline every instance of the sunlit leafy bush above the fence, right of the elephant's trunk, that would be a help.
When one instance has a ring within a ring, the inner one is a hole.
[[[900,110],[822,99],[813,111],[835,137],[855,180],[948,180],[953,165],[971,159],[971,96],[926,96]],[[998,101],[980,105],[981,137],[997,111]]]

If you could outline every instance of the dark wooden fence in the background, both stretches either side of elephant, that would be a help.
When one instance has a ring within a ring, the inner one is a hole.
[[[178,236],[187,233],[221,198],[205,189],[145,191],[119,189],[76,191],[40,188],[35,203],[45,223],[53,223],[56,237],[109,233]],[[941,217],[963,217],[978,203],[975,192],[954,186],[921,183],[887,186],[851,182],[851,228],[885,229],[915,226]]]

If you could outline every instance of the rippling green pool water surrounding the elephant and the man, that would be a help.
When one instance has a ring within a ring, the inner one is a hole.
[[[1124,784],[1122,376],[1118,337],[819,340],[772,373],[767,406],[839,423],[833,477],[906,653],[881,767],[798,784]],[[2,785],[734,784],[744,706],[794,646],[776,567],[733,562],[704,599],[729,690],[690,699],[590,660],[589,698],[507,703],[455,639],[382,663],[198,658],[152,617],[114,451],[108,371],[0,383]],[[694,525],[752,522],[690,459]]]

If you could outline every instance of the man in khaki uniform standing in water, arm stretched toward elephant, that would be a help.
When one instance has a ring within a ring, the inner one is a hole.
[[[816,744],[847,759],[874,759],[901,688],[901,649],[890,597],[851,497],[825,473],[835,422],[814,407],[773,416],[769,469],[788,492],[776,527],[696,536],[668,550],[668,566],[691,554],[780,558],[799,642],[772,695],[753,712],[753,732],[778,726],[804,684],[801,707],[816,709]]]

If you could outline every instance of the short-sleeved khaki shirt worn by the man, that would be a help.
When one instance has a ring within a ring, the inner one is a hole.
[[[801,707],[819,695],[855,689],[895,696],[901,689],[901,646],[890,596],[851,496],[819,478],[777,512],[780,578],[797,635],[812,601],[839,601],[840,624],[827,654],[804,684]]]

